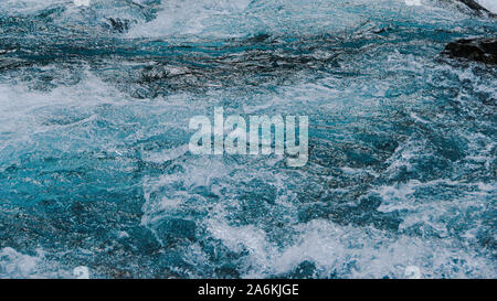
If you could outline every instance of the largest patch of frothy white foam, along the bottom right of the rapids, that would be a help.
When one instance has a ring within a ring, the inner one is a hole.
[[[283,248],[269,243],[254,225],[230,226],[211,221],[213,237],[231,250],[248,251],[240,262],[244,278],[285,275],[307,260],[316,269],[313,277],[348,278],[454,278],[491,277],[494,265],[475,250],[454,246],[450,239],[391,237],[374,228],[339,226],[315,219],[287,229],[295,233]],[[454,264],[457,260],[464,265]],[[489,266],[487,266],[489,265]]]

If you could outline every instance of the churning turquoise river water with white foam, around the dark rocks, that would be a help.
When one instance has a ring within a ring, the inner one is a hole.
[[[495,18],[76,2],[0,1],[0,277],[497,277],[497,67],[441,55]],[[214,107],[308,116],[307,164],[191,154]]]

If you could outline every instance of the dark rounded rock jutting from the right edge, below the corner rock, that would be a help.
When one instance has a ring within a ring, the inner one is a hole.
[[[442,54],[486,64],[497,64],[497,39],[458,40],[448,43]]]

